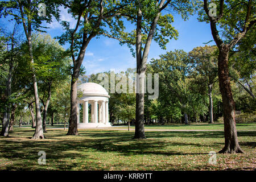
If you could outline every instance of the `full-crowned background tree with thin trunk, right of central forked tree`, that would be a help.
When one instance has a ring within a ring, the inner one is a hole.
[[[188,73],[191,70],[188,53],[183,50],[175,50],[160,55],[160,59],[152,59],[151,67],[155,73],[159,73],[159,98],[166,105],[176,105],[184,113],[185,125],[188,125],[188,112],[191,107],[193,93],[190,89],[191,78]]]

